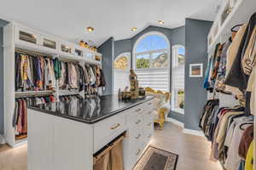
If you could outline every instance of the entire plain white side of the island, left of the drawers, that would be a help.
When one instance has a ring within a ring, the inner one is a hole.
[[[28,170],[92,170],[89,124],[29,110],[28,133]]]

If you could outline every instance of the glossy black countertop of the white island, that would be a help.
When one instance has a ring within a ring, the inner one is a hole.
[[[134,101],[119,101],[117,95],[105,95],[91,99],[70,99],[49,104],[29,105],[28,109],[78,122],[94,123],[153,98],[147,96]]]

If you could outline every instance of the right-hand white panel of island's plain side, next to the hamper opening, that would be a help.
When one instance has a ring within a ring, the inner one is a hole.
[[[92,170],[92,138],[89,124],[55,117],[55,170]]]

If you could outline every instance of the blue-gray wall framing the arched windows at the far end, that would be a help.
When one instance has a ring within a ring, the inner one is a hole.
[[[137,39],[143,36],[143,34],[148,33],[149,31],[158,31],[164,34],[170,42],[171,52],[172,52],[173,45],[179,44],[179,45],[185,46],[185,26],[180,26],[174,29],[163,28],[158,26],[148,26],[143,31],[137,33],[135,37],[131,37],[130,39],[115,41],[114,42],[114,59],[117,56],[119,56],[119,54],[122,54],[125,52],[131,52],[131,55],[132,55],[132,49],[135,43],[137,42]],[[172,62],[172,59],[171,59],[171,62]],[[132,65],[132,57],[131,57],[131,65]],[[172,83],[170,84],[172,85]],[[170,87],[170,89],[172,89],[172,87]],[[175,111],[171,111],[168,116],[176,119],[179,122],[184,122],[183,114],[177,113]]]

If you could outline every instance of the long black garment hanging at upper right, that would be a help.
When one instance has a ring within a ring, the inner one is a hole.
[[[256,26],[256,13],[253,14],[249,20],[247,30],[245,31],[245,34],[242,37],[241,44],[236,54],[236,59],[234,59],[233,65],[230,69],[230,74],[228,75],[225,81],[227,85],[240,88],[243,90],[247,89],[247,82],[249,76],[244,73],[241,61],[247,49],[250,37],[253,33],[254,26]]]

